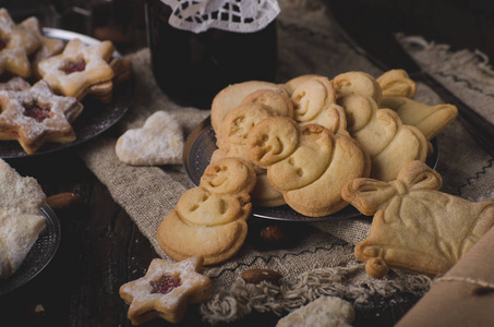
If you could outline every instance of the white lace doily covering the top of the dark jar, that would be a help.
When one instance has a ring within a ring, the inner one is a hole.
[[[277,0],[161,0],[172,9],[168,23],[200,33],[218,28],[252,33],[266,27],[278,15]]]

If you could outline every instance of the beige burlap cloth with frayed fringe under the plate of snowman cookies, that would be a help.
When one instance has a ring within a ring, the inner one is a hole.
[[[310,2],[310,3],[309,3]],[[365,71],[378,76],[382,71],[357,53],[337,33],[317,1],[281,1],[278,16],[278,72],[276,82],[316,73],[333,77],[347,71]],[[413,57],[465,102],[493,121],[491,109],[494,73],[486,59],[470,51],[451,52],[420,37],[400,36]],[[155,238],[161,219],[176,206],[192,183],[181,166],[132,167],[121,164],[115,153],[117,137],[130,128],[142,126],[156,110],[177,116],[185,136],[207,116],[208,110],[183,108],[170,101],[157,87],[150,72],[148,49],[129,56],[136,80],[135,101],[119,122],[115,135],[98,137],[81,150],[81,157],[108,186],[115,201],[135,221],[157,254],[170,259]],[[241,63],[239,63],[241,64]],[[192,95],[191,95],[192,96]],[[441,99],[419,85],[415,99],[434,105]],[[438,137],[438,172],[443,191],[472,201],[492,199],[494,159],[478,146],[460,122],[453,122]],[[279,315],[314,300],[321,294],[341,296],[354,304],[372,296],[389,298],[397,292],[422,295],[431,280],[424,276],[391,271],[383,280],[366,276],[353,257],[353,245],[370,230],[371,218],[313,223],[308,235],[281,250],[257,250],[245,243],[233,258],[206,269],[215,294],[200,307],[209,323],[236,320],[251,311],[273,311]],[[240,275],[263,267],[284,275],[279,286],[245,284]]]

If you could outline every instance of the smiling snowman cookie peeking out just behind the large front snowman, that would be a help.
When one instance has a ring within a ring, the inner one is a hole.
[[[327,77],[316,76],[299,85],[292,93],[293,119],[301,125],[320,124],[337,133],[345,131],[345,110],[336,104],[336,92]]]

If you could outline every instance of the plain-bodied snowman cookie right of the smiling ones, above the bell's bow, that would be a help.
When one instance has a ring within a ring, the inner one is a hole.
[[[419,129],[403,124],[395,111],[378,109],[373,98],[362,95],[341,97],[338,104],[347,112],[348,132],[371,156],[371,178],[391,181],[408,162],[425,161],[427,140]]]

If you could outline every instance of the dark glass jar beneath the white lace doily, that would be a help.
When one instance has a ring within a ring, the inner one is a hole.
[[[196,34],[170,26],[171,8],[160,0],[146,0],[145,12],[155,80],[176,102],[210,109],[214,96],[230,84],[274,80],[276,21],[255,33]]]

